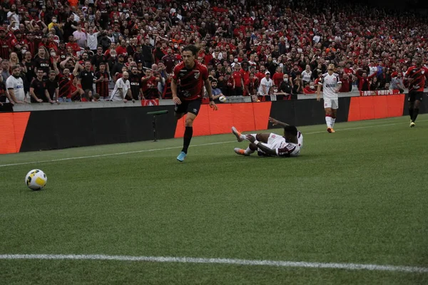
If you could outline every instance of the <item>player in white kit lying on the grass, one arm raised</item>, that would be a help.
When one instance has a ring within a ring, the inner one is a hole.
[[[272,125],[281,125],[284,128],[284,136],[275,133],[259,133],[252,135],[243,135],[235,127],[232,127],[232,133],[238,139],[238,142],[248,140],[246,150],[236,147],[235,152],[238,155],[251,155],[256,150],[260,156],[279,156],[290,157],[300,154],[300,148],[303,145],[303,135],[294,125],[287,125],[274,118],[269,118]]]

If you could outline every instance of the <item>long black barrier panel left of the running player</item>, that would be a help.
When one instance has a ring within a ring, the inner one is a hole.
[[[147,113],[158,110],[168,110],[168,114],[156,120],[158,139],[173,138],[172,105],[31,112],[21,146],[15,150],[26,152],[153,140],[153,115]]]

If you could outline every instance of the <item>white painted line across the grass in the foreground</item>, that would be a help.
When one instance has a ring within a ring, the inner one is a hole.
[[[219,259],[197,257],[130,257],[122,255],[103,254],[1,254],[0,259],[50,259],[50,260],[113,260],[113,261],[149,261],[149,262],[175,262],[191,264],[235,264],[255,266],[277,267],[301,267],[317,269],[347,269],[370,271],[398,271],[409,273],[428,273],[428,268],[417,266],[395,266],[377,264],[353,264],[353,263],[323,263],[305,261],[275,261],[275,260],[251,260],[251,259]]]

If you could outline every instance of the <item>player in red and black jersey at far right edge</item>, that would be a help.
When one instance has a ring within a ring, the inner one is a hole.
[[[409,81],[409,116],[410,128],[419,114],[419,105],[424,96],[425,78],[428,78],[428,68],[422,66],[422,57],[416,59],[416,65],[410,66],[404,76]]]

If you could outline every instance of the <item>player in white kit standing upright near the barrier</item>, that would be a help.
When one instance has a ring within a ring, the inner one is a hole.
[[[335,73],[335,65],[329,64],[327,73],[323,74],[318,83],[317,101],[320,100],[320,91],[322,87],[322,98],[324,99],[325,123],[327,124],[327,132],[335,133],[333,126],[336,121],[337,109],[339,108],[339,100],[337,93],[342,87],[339,75]]]

